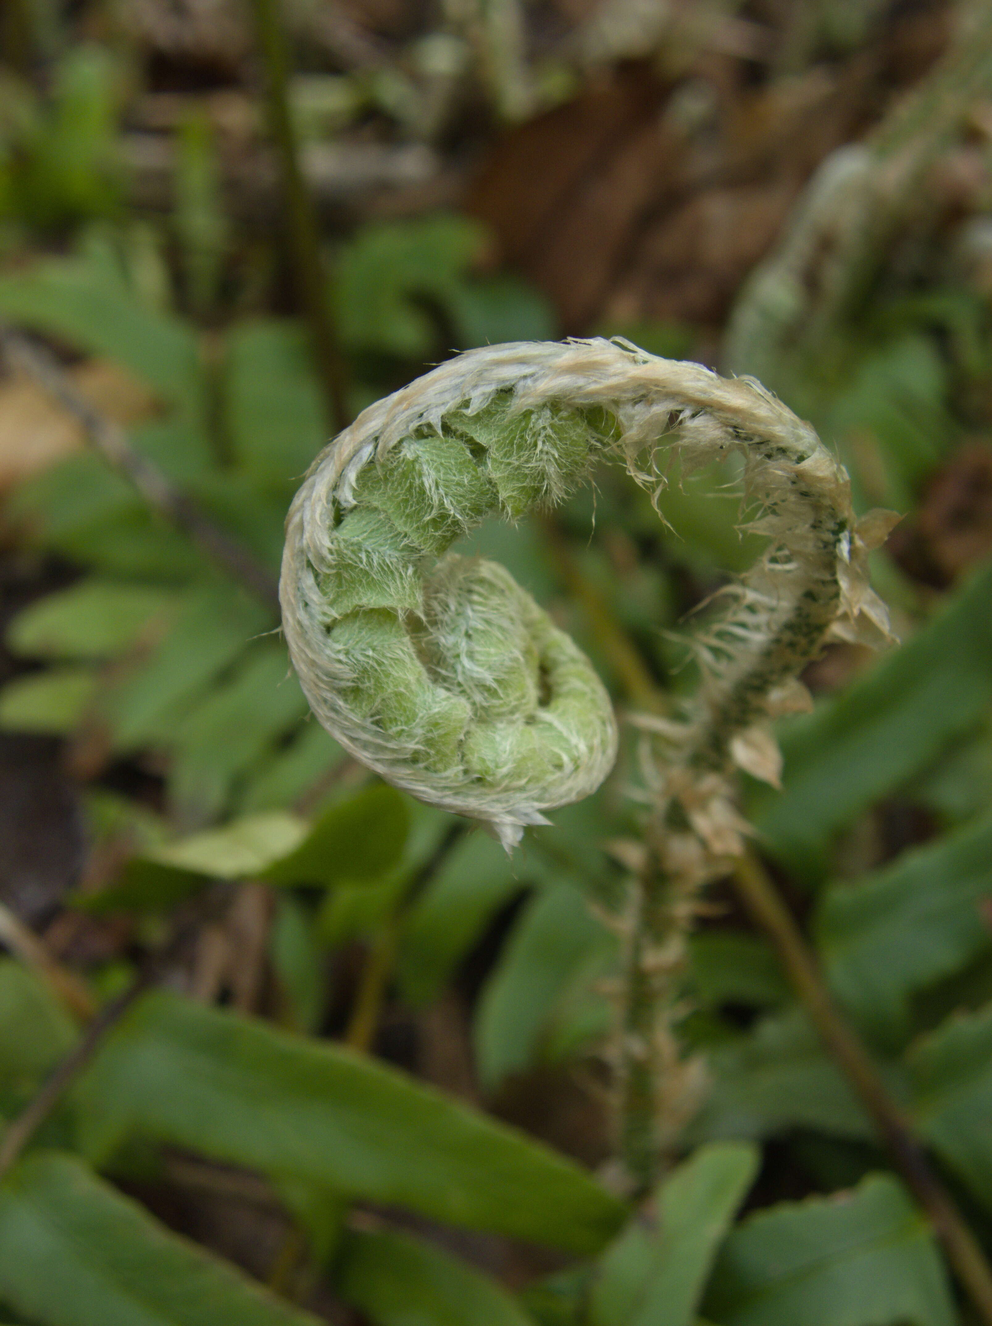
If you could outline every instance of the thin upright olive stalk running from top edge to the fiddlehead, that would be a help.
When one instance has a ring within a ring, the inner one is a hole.
[[[252,0],[255,33],[265,65],[269,127],[279,151],[290,260],[297,297],[310,325],[317,371],[334,431],[349,422],[346,373],[330,313],[330,278],[321,255],[313,199],[300,166],[300,143],[289,107],[289,49],[279,0]]]

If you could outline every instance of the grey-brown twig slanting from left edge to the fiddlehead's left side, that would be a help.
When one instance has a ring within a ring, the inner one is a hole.
[[[94,410],[76,389],[49,350],[8,328],[0,328],[0,349],[8,363],[31,374],[82,426],[86,440],[134,484],[150,507],[183,529],[214,562],[279,611],[279,583],[269,569],[236,538],[219,529],[158,465],[135,451],[123,430]]]

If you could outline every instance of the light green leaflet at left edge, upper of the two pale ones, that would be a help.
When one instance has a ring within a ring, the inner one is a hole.
[[[149,627],[164,626],[175,606],[176,595],[156,586],[85,579],[23,609],[7,646],[40,658],[113,658]]]

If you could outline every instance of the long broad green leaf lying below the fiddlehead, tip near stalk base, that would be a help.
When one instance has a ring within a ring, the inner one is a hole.
[[[623,1219],[572,1162],[394,1069],[166,993],[110,1034],[76,1099],[89,1154],[135,1134],[572,1252]]]

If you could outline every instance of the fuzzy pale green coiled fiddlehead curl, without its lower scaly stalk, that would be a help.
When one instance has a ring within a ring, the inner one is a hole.
[[[678,743],[680,765],[719,776],[833,626],[887,631],[863,573],[875,526],[855,526],[843,469],[757,382],[602,339],[471,350],[317,457],[281,578],[314,713],[382,777],[511,846],[602,782],[615,720],[509,573],[448,549],[489,516],[560,503],[605,457],[654,489],[674,456],[684,472],[731,452],[769,550],[698,642],[704,684]]]

